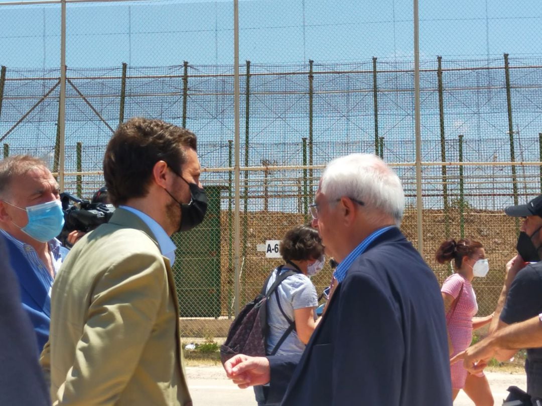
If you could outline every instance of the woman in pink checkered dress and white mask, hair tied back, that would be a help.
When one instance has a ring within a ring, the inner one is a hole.
[[[486,276],[489,265],[482,244],[470,239],[444,241],[437,250],[436,260],[439,263],[454,261],[455,273],[444,281],[441,288],[451,357],[467,349],[473,330],[488,324],[493,317],[490,314],[473,318],[478,312],[478,304],[470,284],[474,276]],[[483,372],[470,375],[462,362],[451,365],[450,372],[452,399],[463,389],[476,406],[493,406],[493,396]]]

